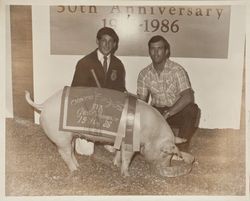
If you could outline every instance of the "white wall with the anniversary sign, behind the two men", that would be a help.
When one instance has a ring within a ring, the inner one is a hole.
[[[201,108],[199,127],[237,129],[245,12],[242,5],[156,5],[140,9],[32,6],[35,101],[41,103],[71,84],[77,61],[96,48],[96,32],[106,25],[112,26],[120,36],[116,54],[126,68],[130,92],[136,93],[137,75],[151,62],[147,55],[148,39],[155,34],[164,35],[170,41],[171,59],[184,66],[190,76],[195,100]],[[35,119],[38,122],[38,114]]]

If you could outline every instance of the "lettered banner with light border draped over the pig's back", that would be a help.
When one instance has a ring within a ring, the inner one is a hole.
[[[124,138],[132,148],[139,141],[134,136],[138,129],[134,129],[133,122],[128,125],[127,121],[130,96],[104,88],[64,87],[59,129],[110,138],[118,149]],[[136,107],[136,102],[132,107]],[[135,116],[135,109],[132,115]],[[128,126],[132,127],[130,131]]]

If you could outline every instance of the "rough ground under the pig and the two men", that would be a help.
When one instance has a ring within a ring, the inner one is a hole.
[[[77,155],[80,170],[69,174],[55,145],[42,129],[23,119],[6,119],[6,196],[51,195],[245,195],[245,132],[198,129],[190,152],[190,174],[155,175],[141,155],[123,178],[114,154],[97,145],[89,156]]]

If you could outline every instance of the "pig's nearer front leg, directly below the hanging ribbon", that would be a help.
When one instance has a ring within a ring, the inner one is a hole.
[[[125,177],[130,176],[128,173],[128,167],[130,165],[131,158],[134,155],[134,152],[125,150],[124,143],[122,143],[121,155],[122,155],[121,175]]]

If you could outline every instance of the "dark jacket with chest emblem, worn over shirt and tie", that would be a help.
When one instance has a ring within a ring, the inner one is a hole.
[[[102,64],[97,57],[97,49],[78,61],[71,86],[97,87],[91,69],[94,69],[102,88],[126,91],[125,69],[120,59],[111,55],[105,76]]]

